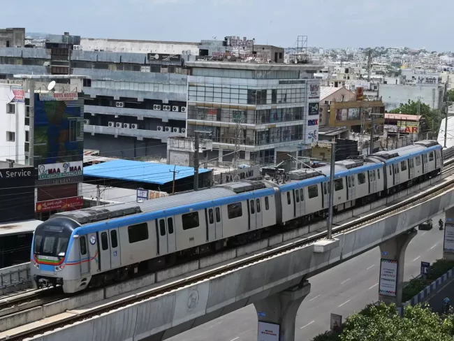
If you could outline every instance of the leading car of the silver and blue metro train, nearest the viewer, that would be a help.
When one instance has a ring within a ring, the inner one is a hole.
[[[31,273],[36,286],[66,293],[124,280],[166,256],[198,254],[229,238],[276,224],[275,188],[237,182],[145,203],[58,213],[36,228]]]

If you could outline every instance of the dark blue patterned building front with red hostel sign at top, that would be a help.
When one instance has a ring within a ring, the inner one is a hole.
[[[61,99],[68,94],[80,99]],[[52,93],[53,100],[50,94],[35,94],[34,166],[83,159],[84,95],[68,94]]]

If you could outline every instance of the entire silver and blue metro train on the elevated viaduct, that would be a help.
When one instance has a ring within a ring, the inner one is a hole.
[[[437,175],[442,147],[424,140],[335,163],[335,212],[364,205]],[[293,170],[279,180],[220,184],[144,203],[114,203],[53,215],[36,228],[31,274],[37,287],[73,293],[170,266],[307,224],[328,213],[330,166]]]

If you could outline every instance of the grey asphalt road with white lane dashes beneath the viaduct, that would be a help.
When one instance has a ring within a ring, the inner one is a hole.
[[[431,231],[418,231],[405,254],[404,280],[420,273],[420,262],[433,262],[443,254],[443,233],[434,217]],[[311,293],[302,302],[296,317],[295,340],[312,340],[328,330],[330,313],[343,319],[378,299],[380,249],[364,254],[309,278]],[[452,298],[454,301],[454,297]],[[254,305],[224,315],[202,326],[176,335],[169,341],[251,341],[257,340],[257,313]]]

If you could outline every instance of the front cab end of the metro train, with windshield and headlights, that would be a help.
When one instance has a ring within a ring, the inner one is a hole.
[[[72,233],[80,224],[67,217],[53,217],[39,225],[31,247],[31,276],[34,286],[63,285],[65,292],[74,292],[73,282],[79,283],[80,271],[68,266],[73,258]]]

